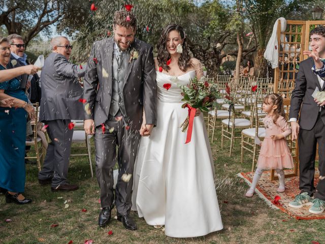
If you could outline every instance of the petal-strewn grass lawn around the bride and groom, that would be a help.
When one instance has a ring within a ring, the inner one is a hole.
[[[50,186],[38,184],[38,169],[26,166],[25,196],[33,203],[6,204],[0,196],[0,243],[325,243],[324,220],[296,220],[280,210],[271,209],[256,195],[244,197],[248,186],[236,174],[251,169],[251,158],[240,163],[240,144],[228,157],[229,143],[220,148],[220,131],[212,143],[217,177],[217,195],[224,229],[197,238],[170,238],[161,229],[146,225],[132,212],[137,231],[125,230],[112,219],[106,228],[97,224],[100,211],[99,187],[91,178],[86,157],[71,158],[69,180],[80,186],[75,192],[52,193]],[[246,154],[247,156],[249,154]],[[94,156],[94,152],[92,152]],[[93,157],[94,158],[94,157]],[[67,201],[68,208],[65,208]],[[83,212],[82,209],[87,209]],[[112,211],[115,216],[116,209]],[[5,220],[11,219],[7,223]],[[51,225],[57,224],[57,227]],[[108,231],[112,230],[113,235]]]

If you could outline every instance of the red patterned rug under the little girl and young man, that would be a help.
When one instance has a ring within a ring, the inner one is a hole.
[[[284,170],[285,174],[293,173],[293,170]],[[246,183],[250,186],[254,172],[247,172],[247,173],[239,173],[237,174],[239,177],[242,177]],[[317,185],[319,177],[319,171],[315,171],[315,179],[314,179],[314,186]],[[297,219],[297,220],[314,220],[314,219],[325,219],[325,212],[321,215],[313,215],[310,214],[308,211],[310,206],[305,206],[302,208],[291,208],[288,206],[289,202],[295,199],[295,196],[299,194],[299,177],[290,177],[285,178],[285,192],[280,193],[276,190],[279,186],[279,180],[271,181],[271,171],[264,171],[261,179],[259,179],[255,194],[262,199],[264,199],[268,205],[272,208],[280,209],[281,211],[285,212],[289,216]],[[274,204],[273,201],[275,196],[280,196],[281,199],[279,200],[279,204]]]

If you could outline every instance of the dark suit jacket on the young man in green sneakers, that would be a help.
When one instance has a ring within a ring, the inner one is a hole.
[[[317,76],[311,70],[313,65],[314,61],[311,57],[300,63],[295,89],[291,94],[289,118],[298,118],[300,111],[299,125],[304,130],[311,130],[318,116],[319,107],[311,95],[316,87],[319,90],[325,88],[325,84],[320,87]],[[325,108],[321,109],[320,116],[325,124]]]

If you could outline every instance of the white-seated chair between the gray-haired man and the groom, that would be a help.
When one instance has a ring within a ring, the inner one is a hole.
[[[73,149],[74,143],[85,143],[85,146],[78,146],[74,147],[74,149],[86,149],[86,153],[78,153],[78,154],[71,154],[70,157],[75,156],[87,156],[89,167],[90,167],[90,174],[91,177],[93,177],[93,170],[92,170],[92,163],[91,163],[91,144],[90,144],[90,138],[91,135],[87,135],[86,132],[83,129],[83,120],[72,120],[73,123],[75,123],[74,132],[72,136],[72,145],[71,149]]]

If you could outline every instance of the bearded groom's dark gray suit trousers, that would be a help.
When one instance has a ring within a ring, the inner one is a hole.
[[[109,115],[105,122],[105,132],[103,133],[102,126],[97,127],[94,139],[101,206],[113,205],[113,167],[117,161],[119,173],[115,188],[115,205],[118,215],[128,215],[132,206],[133,177],[128,182],[124,182],[121,177],[124,173],[133,174],[140,140],[139,131],[129,128],[124,119],[117,121]]]

